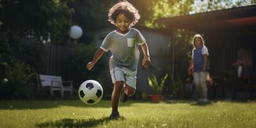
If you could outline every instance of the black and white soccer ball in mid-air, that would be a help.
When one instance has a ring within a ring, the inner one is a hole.
[[[96,104],[102,99],[103,89],[97,81],[88,80],[80,85],[78,95],[85,104]]]

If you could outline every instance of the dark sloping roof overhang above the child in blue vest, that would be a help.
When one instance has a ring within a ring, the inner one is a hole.
[[[193,31],[256,28],[256,4],[225,10],[196,13],[158,19],[158,22],[175,28]]]

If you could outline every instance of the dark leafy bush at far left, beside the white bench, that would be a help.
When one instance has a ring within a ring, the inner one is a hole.
[[[29,65],[15,61],[11,64],[1,63],[1,67],[0,99],[33,98],[35,73],[31,72]]]

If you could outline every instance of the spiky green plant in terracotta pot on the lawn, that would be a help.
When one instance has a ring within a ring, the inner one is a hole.
[[[153,94],[150,95],[150,100],[152,102],[160,102],[161,101],[161,93],[162,88],[164,86],[164,82],[166,78],[168,77],[168,74],[166,74],[163,79],[161,79],[160,83],[157,81],[157,77],[155,74],[152,74],[152,77],[148,77],[148,85],[150,86]]]

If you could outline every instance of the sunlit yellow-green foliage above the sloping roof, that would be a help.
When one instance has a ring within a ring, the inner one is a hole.
[[[156,19],[223,10],[256,3],[255,0],[156,0],[150,2],[148,11],[152,12],[152,15],[145,20],[145,25],[149,28],[161,27],[157,22],[154,22]]]

